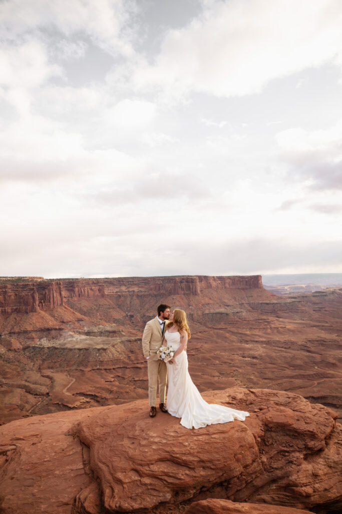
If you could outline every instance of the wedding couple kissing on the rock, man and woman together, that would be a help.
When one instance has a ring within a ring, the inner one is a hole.
[[[185,428],[202,428],[217,423],[244,421],[248,412],[207,403],[199,394],[188,372],[187,343],[191,337],[187,316],[182,309],[167,304],[157,307],[157,316],[146,323],[143,334],[143,354],[147,360],[150,417],[156,415],[157,382],[159,409],[180,418]],[[172,348],[172,358],[165,362],[165,353],[158,356],[161,346]],[[173,355],[172,355],[173,354]],[[168,380],[169,379],[169,380]],[[168,383],[168,406],[166,386]]]

